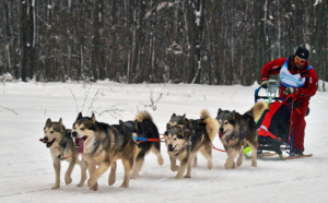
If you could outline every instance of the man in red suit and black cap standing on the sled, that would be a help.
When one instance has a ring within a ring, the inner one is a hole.
[[[317,92],[317,74],[314,68],[307,61],[309,51],[304,48],[297,48],[295,55],[289,58],[274,59],[263,65],[261,71],[261,86],[268,85],[270,75],[280,76],[280,98],[293,98],[298,103],[300,111],[293,114],[293,146],[295,155],[303,155],[305,136],[305,115],[308,101]]]

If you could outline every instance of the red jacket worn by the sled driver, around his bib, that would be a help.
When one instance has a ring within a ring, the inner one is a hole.
[[[261,71],[261,81],[269,80],[270,75],[279,74],[280,69],[284,64],[288,58],[280,58],[273,61],[268,62],[263,65]],[[309,62],[306,61],[304,65],[298,70],[295,71],[292,67],[294,63],[294,56],[289,58],[288,68],[290,73],[297,74],[301,73],[301,77],[305,77],[305,84],[302,88],[296,88],[295,96],[297,100],[309,100],[309,97],[316,94],[317,92],[317,83],[318,77],[315,70],[309,65]],[[285,98],[286,96],[283,94],[285,89],[284,86],[280,89],[280,97]]]

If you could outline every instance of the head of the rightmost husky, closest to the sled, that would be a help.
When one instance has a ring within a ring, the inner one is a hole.
[[[229,136],[235,126],[235,111],[222,110],[218,111],[216,120],[219,121],[219,136],[221,140]]]

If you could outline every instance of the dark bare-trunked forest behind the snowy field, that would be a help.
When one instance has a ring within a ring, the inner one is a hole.
[[[1,0],[0,75],[251,85],[311,51],[328,81],[327,0]]]

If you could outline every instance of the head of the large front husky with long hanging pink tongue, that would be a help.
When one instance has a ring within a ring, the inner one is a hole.
[[[90,153],[93,150],[94,134],[95,134],[95,116],[83,117],[80,112],[75,122],[73,123],[72,136],[75,139],[75,145],[79,146],[80,154]]]

